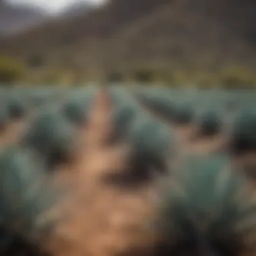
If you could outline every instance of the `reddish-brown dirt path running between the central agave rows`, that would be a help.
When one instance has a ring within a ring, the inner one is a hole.
[[[67,219],[51,238],[55,256],[116,256],[129,251],[132,256],[141,256],[140,250],[150,249],[154,239],[149,224],[156,210],[159,183],[127,189],[102,179],[123,172],[127,154],[125,147],[106,142],[111,134],[110,111],[104,96],[100,97],[88,129],[80,135],[77,159],[56,174],[57,181],[68,185],[74,195],[63,210]]]

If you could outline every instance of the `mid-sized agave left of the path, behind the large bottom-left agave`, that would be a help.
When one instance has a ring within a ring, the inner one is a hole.
[[[76,129],[58,110],[38,113],[22,136],[22,144],[36,150],[49,166],[68,160],[75,142]]]

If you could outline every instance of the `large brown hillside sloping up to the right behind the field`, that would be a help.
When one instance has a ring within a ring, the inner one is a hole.
[[[109,71],[147,65],[217,70],[256,67],[252,0],[112,0],[100,9],[49,22],[1,49],[49,65]]]

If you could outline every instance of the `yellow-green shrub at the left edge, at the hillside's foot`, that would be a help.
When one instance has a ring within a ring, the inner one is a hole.
[[[26,68],[15,59],[0,57],[0,83],[13,84],[26,77]]]

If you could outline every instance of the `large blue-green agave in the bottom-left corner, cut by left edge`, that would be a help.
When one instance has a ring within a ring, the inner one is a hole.
[[[55,222],[50,212],[60,191],[49,186],[43,163],[30,150],[6,148],[0,170],[1,255],[45,255],[39,248]]]

